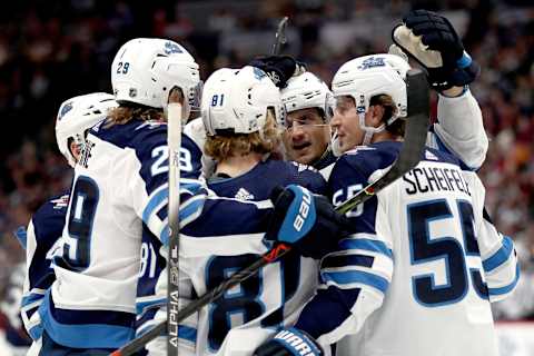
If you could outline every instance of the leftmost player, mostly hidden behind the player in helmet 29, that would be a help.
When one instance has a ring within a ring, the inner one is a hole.
[[[72,168],[80,158],[87,131],[115,107],[113,96],[106,92],[73,97],[61,103],[56,120],[56,140]],[[33,340],[39,339],[42,333],[39,313],[36,312],[56,279],[50,264],[61,245],[68,204],[68,191],[51,198],[33,214],[28,228],[18,231],[27,255],[20,310],[26,330]]]

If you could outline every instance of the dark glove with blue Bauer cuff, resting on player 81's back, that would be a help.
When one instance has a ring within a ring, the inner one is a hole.
[[[300,255],[320,259],[337,249],[344,237],[346,218],[336,212],[323,196],[289,185],[273,189],[270,200],[275,210],[265,238],[291,245]]]

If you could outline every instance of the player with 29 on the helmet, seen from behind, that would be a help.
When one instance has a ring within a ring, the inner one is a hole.
[[[198,66],[176,42],[135,39],[119,49],[111,82],[119,107],[87,137],[55,259],[57,279],[39,307],[42,354],[107,355],[131,339],[142,229],[167,241],[162,108],[178,88],[188,116],[198,99]],[[186,137],[181,150],[185,199],[200,185],[187,180],[198,167]],[[196,198],[185,204],[194,207]]]

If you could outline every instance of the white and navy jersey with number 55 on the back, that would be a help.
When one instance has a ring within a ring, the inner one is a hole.
[[[400,146],[342,156],[333,204],[378,179]],[[484,196],[462,162],[426,149],[416,168],[347,214],[354,230],[323,259],[320,289],[296,327],[324,346],[356,334],[350,355],[496,356],[490,301],[512,291],[518,269],[512,240],[484,218]]]

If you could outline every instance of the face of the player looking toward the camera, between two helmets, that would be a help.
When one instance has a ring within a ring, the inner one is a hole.
[[[289,112],[283,140],[288,159],[312,165],[323,156],[330,140],[330,129],[316,108]]]

